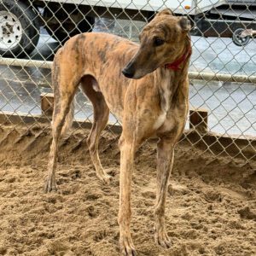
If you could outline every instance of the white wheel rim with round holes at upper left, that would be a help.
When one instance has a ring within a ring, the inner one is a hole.
[[[7,11],[0,11],[0,48],[12,49],[20,44],[22,37],[20,20]]]

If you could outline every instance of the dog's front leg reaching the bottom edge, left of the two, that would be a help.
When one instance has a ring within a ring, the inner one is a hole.
[[[126,256],[135,256],[136,251],[131,239],[131,176],[133,170],[135,148],[122,136],[120,148],[120,195],[119,195],[119,242],[121,252]]]

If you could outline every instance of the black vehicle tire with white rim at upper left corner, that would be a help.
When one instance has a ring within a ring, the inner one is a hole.
[[[0,55],[23,57],[38,44],[39,20],[25,3],[3,0],[0,3]]]

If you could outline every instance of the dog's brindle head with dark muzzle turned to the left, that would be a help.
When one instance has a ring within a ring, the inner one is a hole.
[[[189,20],[174,16],[170,9],[155,15],[139,35],[140,48],[123,69],[125,77],[141,79],[156,68],[176,61],[188,44],[189,30]]]

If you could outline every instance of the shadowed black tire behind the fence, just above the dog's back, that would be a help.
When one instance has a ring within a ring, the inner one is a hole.
[[[80,19],[81,21],[78,24],[75,24],[72,20],[72,16],[67,15],[67,12],[64,9],[57,9],[56,7],[50,9],[45,8],[44,19],[49,20],[49,17],[52,17],[53,13],[58,22],[49,22],[45,28],[49,35],[61,44],[64,44],[67,39],[72,38],[76,34],[81,32],[91,32],[95,23],[94,17],[82,16]],[[69,13],[73,12],[69,10]]]

